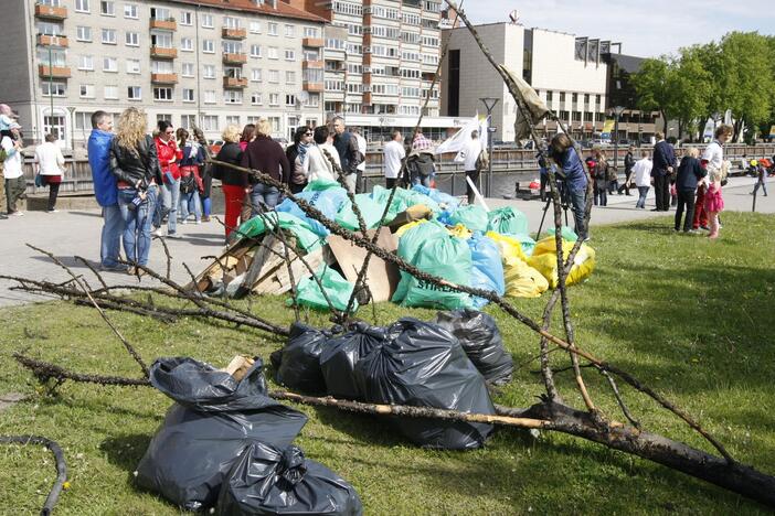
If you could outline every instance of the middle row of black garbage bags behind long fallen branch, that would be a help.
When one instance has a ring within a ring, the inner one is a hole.
[[[501,385],[513,373],[495,321],[475,310],[384,327],[354,323],[338,334],[296,323],[272,362],[277,383],[307,394],[485,415],[495,413],[487,383]],[[433,449],[476,449],[493,431],[485,423],[388,419],[410,441]]]

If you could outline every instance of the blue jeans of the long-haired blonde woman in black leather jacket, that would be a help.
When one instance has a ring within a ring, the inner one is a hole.
[[[148,265],[150,252],[150,227],[156,209],[159,190],[156,185],[148,187],[146,201],[134,209],[129,208],[132,198],[137,196],[135,189],[118,191],[118,207],[124,219],[124,251],[127,261],[141,266]]]

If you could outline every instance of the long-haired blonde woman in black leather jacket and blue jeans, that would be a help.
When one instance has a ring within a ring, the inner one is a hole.
[[[110,143],[110,171],[118,186],[118,208],[125,223],[124,250],[134,264],[129,273],[141,275],[135,266],[147,266],[150,227],[161,174],[156,143],[147,133],[145,111],[127,108],[118,118],[116,138]]]

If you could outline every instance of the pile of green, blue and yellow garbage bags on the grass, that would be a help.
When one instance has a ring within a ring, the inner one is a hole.
[[[338,183],[314,181],[297,195],[343,227],[360,229],[352,202]],[[397,256],[423,272],[457,286],[513,298],[540,297],[548,289],[556,288],[553,229],[537,243],[528,234],[528,218],[518,209],[507,206],[487,212],[478,205],[460,206],[458,198],[422,185],[412,190],[397,189],[392,200],[390,196],[390,190],[374,186],[372,193],[355,195],[354,200],[367,229],[389,226],[399,238]],[[284,201],[277,212],[267,221],[246,222],[238,234],[256,237],[279,225],[296,236],[297,245],[304,250],[326,244],[329,229],[307,216],[295,202]],[[567,256],[576,236],[563,228],[562,237]],[[584,244],[567,284],[587,279],[594,267],[595,252]],[[316,276],[317,280],[311,275],[296,279],[296,302],[325,310],[330,301],[336,309],[344,310],[354,286],[341,275],[341,269],[337,270],[336,264],[329,265]],[[321,284],[329,294],[328,301]],[[489,302],[484,295],[461,293],[404,271],[391,299],[404,307],[445,310],[480,309]]]

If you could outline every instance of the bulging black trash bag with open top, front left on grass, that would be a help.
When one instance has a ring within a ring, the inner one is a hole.
[[[189,510],[217,499],[242,451],[256,441],[285,448],[307,417],[266,395],[263,363],[237,381],[192,358],[159,358],[151,384],[178,401],[137,466],[138,484]]]

